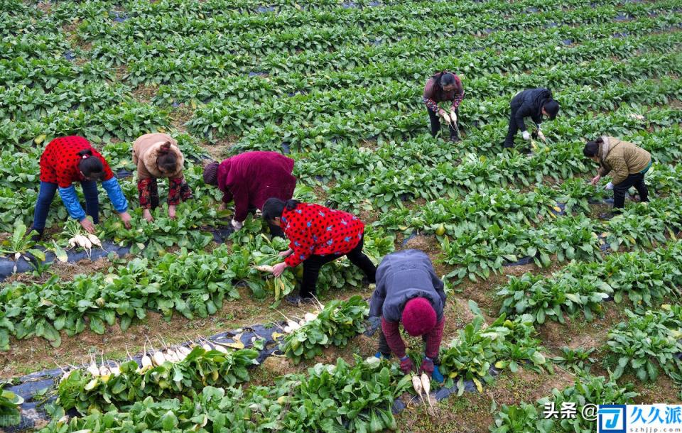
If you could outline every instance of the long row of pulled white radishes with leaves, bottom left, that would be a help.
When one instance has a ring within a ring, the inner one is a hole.
[[[173,353],[171,358],[178,358],[178,351],[186,355],[183,354],[183,359],[175,363],[164,356],[162,363],[153,366],[155,361],[145,354],[141,368],[133,360],[112,368],[104,366],[104,363],[97,367],[93,359],[85,369],[65,371],[57,386],[58,404],[65,410],[75,407],[85,414],[104,410],[110,404],[127,405],[148,396],[169,398],[190,390],[201,390],[207,385],[229,387],[249,380],[247,367],[258,363],[258,352],[253,349],[224,350],[225,353],[213,349],[207,351],[202,346],[195,346],[191,351],[168,348],[166,354]],[[153,355],[157,353],[162,354],[155,351]]]

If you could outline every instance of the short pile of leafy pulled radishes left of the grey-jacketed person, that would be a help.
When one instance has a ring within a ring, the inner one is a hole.
[[[308,314],[310,320],[304,316],[302,326],[287,318],[287,325],[283,328],[287,335],[280,350],[294,363],[320,355],[325,347],[345,347],[352,337],[364,332],[369,305],[362,297],[354,296],[347,301],[334,300],[320,312]]]

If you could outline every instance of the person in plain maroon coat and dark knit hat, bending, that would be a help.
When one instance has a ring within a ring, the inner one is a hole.
[[[222,204],[234,200],[235,230],[242,228],[249,212],[263,209],[269,198],[288,200],[293,197],[296,177],[293,159],[276,152],[246,152],[227,158],[222,163],[210,163],[204,168],[204,182],[222,191]],[[284,237],[279,226],[270,225],[272,236]]]

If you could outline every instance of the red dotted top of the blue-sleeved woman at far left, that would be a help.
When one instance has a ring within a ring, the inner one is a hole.
[[[90,149],[92,157],[99,158],[104,165],[104,178],[109,180],[114,177],[112,169],[102,155],[90,146],[90,141],[80,136],[68,136],[55,138],[45,147],[40,157],[40,181],[56,183],[60,188],[70,187],[73,182],[82,182],[85,177],[78,169],[81,157],[78,152]]]

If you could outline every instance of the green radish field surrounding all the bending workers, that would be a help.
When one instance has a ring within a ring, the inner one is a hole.
[[[596,432],[545,405],[681,403],[681,47],[682,0],[0,0],[0,431]],[[465,89],[458,143],[429,131],[440,70]],[[534,87],[561,105],[547,141],[503,149]],[[176,219],[139,209],[149,132],[185,155]],[[130,202],[126,229],[100,199],[104,251],[69,246],[60,199],[26,236],[40,155],[70,135]],[[650,202],[612,219],[583,155],[600,135],[654,161]],[[448,293],[428,402],[395,358],[367,361],[373,286],[347,259],[315,307],[282,302],[301,267],[256,269],[288,242],[251,217],[232,233],[202,179],[249,150],[362,219],[374,263],[428,253]]]

